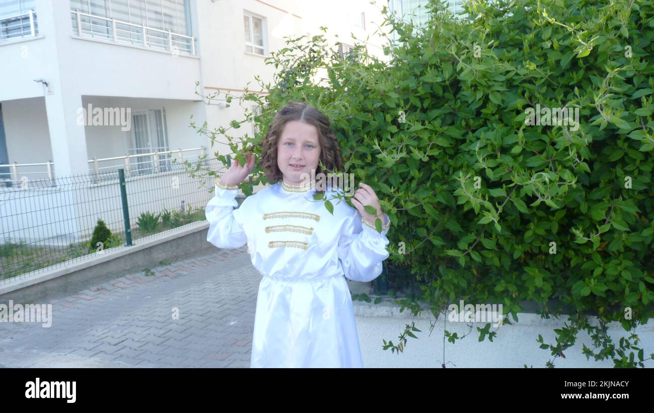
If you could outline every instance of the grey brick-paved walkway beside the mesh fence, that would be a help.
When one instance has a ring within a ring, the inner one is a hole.
[[[0,323],[0,367],[250,367],[261,276],[246,247],[153,272],[37,303],[51,327]]]

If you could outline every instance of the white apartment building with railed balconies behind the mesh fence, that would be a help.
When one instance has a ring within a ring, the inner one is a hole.
[[[190,122],[213,130],[243,109],[207,105],[196,91],[258,90],[254,76],[272,81],[264,58],[283,37],[320,26],[346,50],[351,33],[368,37],[369,52],[385,58],[373,33],[388,3],[377,3],[0,0],[0,187],[122,167],[149,173],[170,167],[154,153],[212,153]]]

